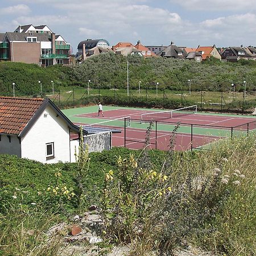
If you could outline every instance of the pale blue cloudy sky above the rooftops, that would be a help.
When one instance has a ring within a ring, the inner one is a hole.
[[[71,44],[256,46],[255,0],[0,0],[0,32],[46,24]]]

